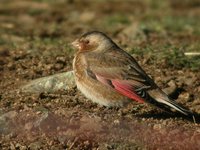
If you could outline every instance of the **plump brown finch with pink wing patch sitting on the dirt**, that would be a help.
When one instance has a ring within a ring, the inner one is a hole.
[[[123,107],[137,101],[169,113],[192,116],[105,33],[90,31],[71,44],[77,50],[73,59],[75,82],[86,98],[107,107]]]

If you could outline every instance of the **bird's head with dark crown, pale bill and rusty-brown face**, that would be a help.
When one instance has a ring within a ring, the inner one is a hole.
[[[104,52],[115,43],[104,33],[92,31],[83,34],[80,38],[72,42],[72,46],[79,52]]]

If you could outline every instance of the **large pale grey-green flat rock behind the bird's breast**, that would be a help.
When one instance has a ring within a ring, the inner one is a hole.
[[[52,93],[58,90],[68,90],[74,86],[73,71],[68,71],[30,81],[21,87],[21,91],[29,93]]]

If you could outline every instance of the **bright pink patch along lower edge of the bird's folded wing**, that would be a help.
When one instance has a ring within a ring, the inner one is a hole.
[[[99,76],[99,75],[96,75],[96,78],[101,83],[103,83],[105,85],[112,86],[116,91],[118,91],[122,95],[127,96],[130,99],[133,99],[137,102],[144,103],[144,99],[142,99],[140,96],[138,96],[133,91],[133,85],[129,84],[128,82],[121,81],[121,80],[105,79],[104,77]]]

